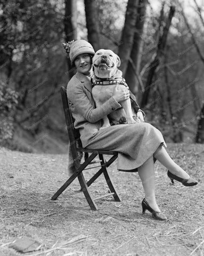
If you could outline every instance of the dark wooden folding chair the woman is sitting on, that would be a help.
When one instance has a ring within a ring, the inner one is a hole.
[[[80,142],[80,134],[79,131],[74,129],[74,122],[73,122],[73,117],[71,114],[71,110],[69,107],[69,102],[67,100],[67,95],[66,95],[66,89],[65,87],[61,87],[61,96],[62,96],[62,102],[63,102],[63,108],[64,108],[64,115],[65,115],[65,120],[66,120],[66,126],[67,126],[67,131],[69,135],[69,140],[70,140],[70,147],[71,147],[71,153],[72,157],[74,159],[74,168],[75,172],[71,175],[71,177],[64,183],[64,185],[58,189],[58,191],[54,194],[52,197],[52,200],[56,200],[59,195],[62,194],[62,192],[76,179],[78,178],[81,190],[83,191],[84,196],[87,199],[87,202],[89,203],[91,210],[98,210],[98,207],[95,203],[96,199],[103,198],[106,196],[113,196],[115,201],[120,202],[121,199],[118,196],[116,189],[113,185],[113,182],[111,180],[111,177],[109,177],[109,174],[107,172],[106,167],[110,166],[116,159],[117,159],[117,152],[115,151],[105,151],[105,150],[92,150],[92,149],[86,149],[83,148],[82,146],[77,147],[77,141]],[[84,162],[80,163],[80,159],[78,156],[78,152],[83,152],[84,153]],[[89,156],[90,154],[90,156]],[[104,155],[112,155],[112,157],[106,162],[104,159]],[[99,161],[92,161],[96,156],[99,156]],[[89,164],[95,164],[95,163],[100,163],[100,165],[94,166],[94,167],[88,167],[86,168]],[[86,182],[83,176],[83,171],[100,167],[100,170],[88,181]],[[106,194],[104,196],[100,196],[97,198],[93,198],[89,186],[100,176],[100,174],[104,174],[105,180],[107,182],[107,185],[109,189],[111,190],[111,193]]]

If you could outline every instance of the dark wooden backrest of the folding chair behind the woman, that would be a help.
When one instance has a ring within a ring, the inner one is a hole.
[[[77,142],[81,147],[80,133],[74,128],[74,118],[72,117],[69,102],[67,99],[66,89],[64,86],[61,87],[61,97],[72,157],[73,159],[78,159]]]

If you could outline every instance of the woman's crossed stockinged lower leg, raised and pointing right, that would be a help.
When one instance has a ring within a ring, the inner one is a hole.
[[[189,179],[190,176],[179,165],[177,165],[173,159],[168,155],[166,149],[163,146],[159,146],[153,156],[163,164],[171,173],[183,178]]]

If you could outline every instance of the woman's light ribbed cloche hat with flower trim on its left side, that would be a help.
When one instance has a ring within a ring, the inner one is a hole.
[[[95,54],[94,48],[86,40],[79,39],[77,41],[71,41],[63,44],[66,53],[69,54],[71,63],[74,62],[75,58],[82,53]]]

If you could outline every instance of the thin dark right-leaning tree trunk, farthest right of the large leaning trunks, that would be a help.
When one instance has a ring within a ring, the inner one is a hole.
[[[148,74],[148,77],[147,77],[147,83],[145,85],[145,92],[143,93],[142,101],[141,101],[141,104],[140,104],[141,108],[143,108],[147,105],[150,89],[153,86],[153,85],[151,85],[152,79],[155,75],[155,70],[159,66],[159,63],[162,60],[162,57],[164,55],[167,35],[168,35],[169,27],[170,27],[171,22],[172,22],[172,18],[174,16],[174,12],[175,12],[175,7],[171,6],[170,10],[169,10],[169,14],[168,14],[168,19],[166,21],[166,25],[163,29],[163,33],[161,33],[160,36],[159,36],[159,42],[157,44],[157,53],[156,53],[155,59],[149,65],[150,70],[149,70],[149,74]]]

